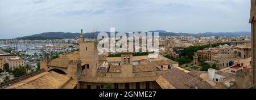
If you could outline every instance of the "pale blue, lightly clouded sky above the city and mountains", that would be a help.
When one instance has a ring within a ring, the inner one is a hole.
[[[1,0],[0,38],[42,32],[250,31],[250,0]]]

